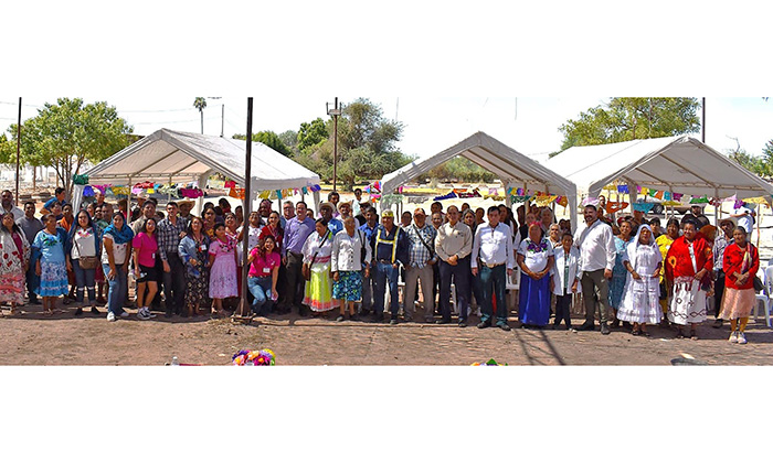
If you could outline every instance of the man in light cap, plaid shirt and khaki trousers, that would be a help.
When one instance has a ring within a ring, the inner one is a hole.
[[[423,208],[413,212],[413,224],[404,227],[409,240],[409,265],[405,267],[405,292],[403,293],[403,311],[405,321],[413,319],[414,294],[416,283],[422,281],[424,295],[424,319],[432,322],[435,313],[433,265],[437,262],[435,254],[435,237],[437,230],[426,223]]]

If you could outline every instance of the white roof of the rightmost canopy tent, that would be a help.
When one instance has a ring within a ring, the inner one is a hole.
[[[572,147],[547,165],[589,196],[617,180],[690,195],[773,194],[773,185],[688,136]]]

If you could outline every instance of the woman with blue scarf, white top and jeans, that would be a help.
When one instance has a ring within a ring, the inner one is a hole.
[[[115,322],[116,316],[127,317],[129,313],[124,310],[124,301],[129,291],[127,274],[129,270],[129,256],[131,255],[131,240],[135,234],[131,227],[126,225],[124,214],[113,214],[113,224],[105,228],[102,236],[102,270],[107,278],[107,321]]]

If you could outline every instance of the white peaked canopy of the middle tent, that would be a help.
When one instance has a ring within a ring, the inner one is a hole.
[[[419,159],[384,175],[381,180],[381,191],[384,194],[391,193],[457,155],[465,157],[496,174],[506,191],[510,187],[522,187],[551,194],[562,193],[569,200],[569,209],[576,211],[578,196],[574,183],[484,132],[474,133],[437,154]],[[510,205],[509,196],[507,203]],[[571,217],[572,228],[575,228],[576,214],[572,214]]]

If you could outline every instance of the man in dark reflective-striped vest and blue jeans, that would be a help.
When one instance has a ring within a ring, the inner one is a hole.
[[[394,213],[390,209],[381,214],[381,225],[371,237],[370,247],[373,249],[373,321],[383,321],[384,298],[389,281],[390,324],[398,324],[400,301],[398,295],[398,277],[400,266],[409,261],[407,235],[394,225]]]

